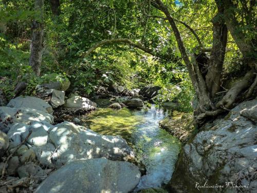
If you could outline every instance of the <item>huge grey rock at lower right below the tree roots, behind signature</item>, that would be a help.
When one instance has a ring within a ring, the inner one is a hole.
[[[200,187],[207,183],[225,186],[211,192],[257,192],[256,111],[257,99],[246,101],[224,119],[201,128],[203,131],[183,148],[171,186],[199,192],[197,185],[200,192],[210,192]]]

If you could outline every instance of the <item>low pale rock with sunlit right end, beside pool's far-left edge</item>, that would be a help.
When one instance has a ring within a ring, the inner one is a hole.
[[[72,96],[65,101],[64,107],[71,109],[92,110],[97,107],[97,104],[81,96]]]

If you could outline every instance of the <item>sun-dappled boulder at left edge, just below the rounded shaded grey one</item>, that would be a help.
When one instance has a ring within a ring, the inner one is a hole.
[[[30,124],[32,121],[47,121],[52,124],[53,116],[43,111],[25,107],[19,109],[0,107],[0,129],[5,133],[17,123]]]

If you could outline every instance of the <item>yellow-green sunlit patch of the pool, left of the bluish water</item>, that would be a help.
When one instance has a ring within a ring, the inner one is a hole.
[[[127,108],[120,110],[106,108],[90,113],[85,121],[89,129],[103,135],[120,135],[129,145],[132,145],[132,133],[143,121],[143,117],[134,115]]]

